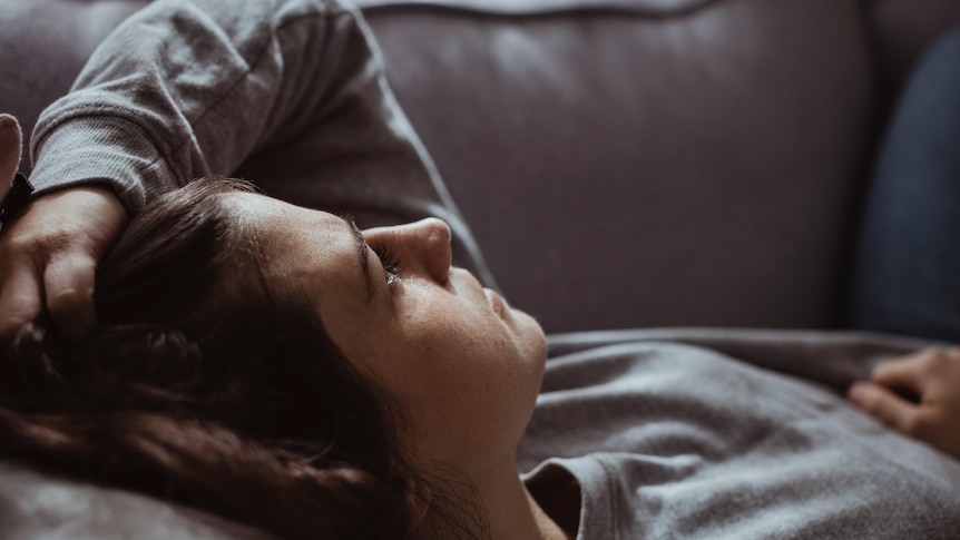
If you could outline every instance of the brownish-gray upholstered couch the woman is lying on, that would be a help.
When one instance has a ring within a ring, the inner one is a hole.
[[[144,3],[0,0],[0,111],[29,132]],[[956,0],[360,3],[500,288],[548,332],[842,326],[890,104],[960,23]],[[3,538],[238,534],[0,467]]]

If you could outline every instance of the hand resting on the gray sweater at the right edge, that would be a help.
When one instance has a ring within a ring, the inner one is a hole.
[[[915,395],[909,400],[904,395]],[[960,350],[927,348],[883,362],[848,393],[854,405],[960,460]]]

